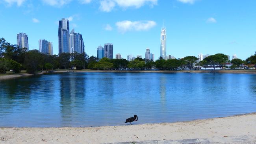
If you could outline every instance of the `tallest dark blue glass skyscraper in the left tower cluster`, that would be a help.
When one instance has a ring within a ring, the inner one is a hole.
[[[59,20],[58,42],[59,54],[69,53],[69,20],[65,18]]]

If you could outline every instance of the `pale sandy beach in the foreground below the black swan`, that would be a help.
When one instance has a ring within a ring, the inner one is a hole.
[[[142,140],[180,140],[256,134],[256,113],[190,122],[102,127],[0,128],[4,144],[100,144]],[[256,135],[255,135],[256,138]],[[256,139],[255,139],[256,140]]]

